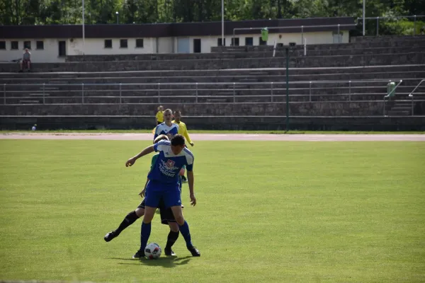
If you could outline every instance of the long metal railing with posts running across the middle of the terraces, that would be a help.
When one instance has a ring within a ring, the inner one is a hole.
[[[388,83],[391,80],[385,79],[370,79],[370,80],[350,80],[350,81],[339,81],[339,80],[329,80],[329,81],[290,81],[289,85],[301,85],[302,87],[295,86],[294,88],[290,88],[291,91],[301,91],[305,92],[303,94],[292,94],[290,96],[308,96],[307,102],[314,102],[312,98],[314,96],[348,96],[348,101],[356,101],[352,100],[353,90],[358,90],[361,88],[383,88],[384,86],[380,86],[379,83]],[[402,81],[400,81],[401,83]],[[378,86],[364,86],[365,83],[377,83]],[[328,84],[328,86],[326,86]],[[329,86],[331,85],[331,86]],[[19,86],[20,88],[18,90],[13,89],[12,87]],[[28,86],[40,86],[39,90],[26,90],[25,88]],[[52,86],[71,86],[72,89],[66,89],[66,90],[57,90],[52,91]],[[93,86],[95,88],[93,88]],[[110,89],[101,89],[99,90],[96,87],[111,87]],[[139,88],[135,89],[128,89],[123,87],[128,86],[137,86]],[[140,86],[146,86],[147,88],[140,88]],[[176,86],[176,88],[170,88],[173,86]],[[179,87],[179,88],[177,88]],[[242,87],[242,88],[241,88]],[[245,88],[243,88],[245,87]],[[231,98],[232,103],[238,103],[237,98],[258,98],[261,96],[261,98],[266,98],[270,102],[276,102],[276,98],[278,97],[284,97],[285,94],[278,94],[278,92],[283,92],[286,90],[286,83],[282,81],[273,81],[273,82],[217,82],[217,83],[28,83],[28,84],[6,84],[4,83],[4,104],[8,104],[8,99],[28,99],[28,98],[37,98],[42,99],[42,104],[49,104],[47,103],[47,99],[50,98],[72,98],[79,100],[81,104],[87,103],[87,100],[90,98],[115,98],[118,100],[119,104],[123,103],[123,99],[128,98],[150,98],[150,99],[157,99],[157,103],[166,103],[167,99],[173,98],[189,98],[191,100],[195,100],[195,103],[202,103],[200,102],[200,98],[207,98],[207,99],[214,99],[214,98]],[[398,85],[397,85],[398,87]],[[396,87],[396,88],[397,88]],[[9,89],[8,89],[9,88]],[[24,88],[24,89],[23,89]],[[327,93],[327,89],[338,89],[342,93]],[[30,92],[33,95],[38,95],[36,97],[34,96],[13,96],[13,93],[22,93],[22,92]],[[50,93],[81,93],[81,96],[52,96],[50,97]],[[146,96],[123,96],[123,92],[127,91],[141,91],[144,93],[154,93],[155,95],[146,95]],[[202,94],[203,91],[208,91],[209,93],[218,93],[218,95],[215,94]],[[227,92],[231,93],[223,95],[220,92]],[[244,95],[239,94],[241,91],[254,91],[259,92],[263,91],[266,93],[266,91],[270,91],[270,94],[259,94],[259,95]],[[314,93],[313,92],[319,92]],[[46,93],[49,92],[49,93]],[[113,95],[101,95],[101,96],[93,96],[92,94],[87,95],[87,93],[91,92],[100,92],[100,93],[113,93]],[[183,96],[177,95],[178,92],[184,92],[185,94]],[[193,94],[187,94],[187,93],[193,93]],[[12,96],[7,96],[7,93],[12,93]],[[114,93],[117,93],[115,95]],[[169,95],[167,95],[169,93]],[[238,93],[238,94],[237,94]],[[363,92],[361,92],[363,93]],[[355,93],[354,93],[355,94]],[[367,93],[365,93],[367,94]],[[376,94],[376,93],[374,93]],[[379,94],[379,93],[378,93]],[[385,99],[385,98],[384,98]],[[266,101],[267,102],[267,101]],[[385,101],[384,101],[385,102]],[[79,103],[79,104],[80,104]],[[11,104],[11,103],[9,103]],[[385,108],[385,107],[384,107]]]

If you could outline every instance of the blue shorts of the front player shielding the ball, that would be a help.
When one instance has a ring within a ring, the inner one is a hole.
[[[158,207],[161,198],[165,207],[181,206],[181,193],[179,184],[168,185],[150,180],[146,187],[145,205]]]

